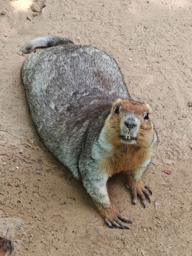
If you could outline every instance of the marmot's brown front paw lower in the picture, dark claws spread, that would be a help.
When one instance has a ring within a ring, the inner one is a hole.
[[[125,218],[121,213],[116,211],[113,207],[109,207],[105,209],[105,222],[107,225],[111,228],[118,227],[118,228],[127,228],[130,229],[130,227],[126,226],[122,221],[132,223],[131,220],[128,218]]]

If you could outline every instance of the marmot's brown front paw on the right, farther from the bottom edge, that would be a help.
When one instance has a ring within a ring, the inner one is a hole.
[[[137,195],[141,197],[141,202],[143,203],[144,208],[146,207],[146,198],[149,199],[149,202],[151,203],[150,194],[152,195],[152,191],[148,185],[143,183],[143,181],[135,182],[132,180],[131,182],[128,182],[126,186],[131,189],[133,204],[137,203]]]

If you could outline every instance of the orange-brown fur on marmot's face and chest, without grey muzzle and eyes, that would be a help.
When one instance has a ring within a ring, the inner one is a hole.
[[[117,106],[120,109],[119,114],[114,112]],[[136,115],[138,119],[137,139],[133,144],[123,143],[119,137],[120,124],[128,113]],[[147,113],[149,119],[143,119]],[[100,163],[101,168],[106,170],[109,176],[122,171],[131,173],[146,159],[151,158],[154,148],[151,143],[155,133],[151,114],[152,110],[148,104],[120,99],[114,102],[110,116],[105,122],[107,140],[113,144],[113,150],[106,154]]]

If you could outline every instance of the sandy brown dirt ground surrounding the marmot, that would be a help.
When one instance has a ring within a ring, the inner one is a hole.
[[[192,1],[166,1],[40,0],[34,12],[32,1],[1,0],[0,230],[14,255],[192,255]],[[152,203],[132,205],[123,175],[108,183],[131,230],[104,225],[32,124],[20,49],[49,34],[109,52],[132,98],[152,105],[158,144],[143,176]]]

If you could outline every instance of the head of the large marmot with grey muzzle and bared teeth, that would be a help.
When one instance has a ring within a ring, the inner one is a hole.
[[[151,115],[149,104],[116,99],[105,122],[108,139],[115,145],[149,146],[155,132]]]

